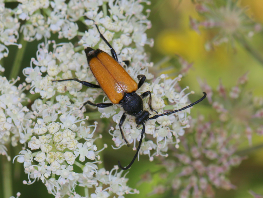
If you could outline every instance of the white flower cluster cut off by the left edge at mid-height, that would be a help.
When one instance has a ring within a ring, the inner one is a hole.
[[[11,159],[5,145],[11,142],[15,147],[19,141],[23,144],[23,126],[30,124],[30,120],[24,119],[31,116],[29,109],[21,104],[25,101],[26,83],[16,87],[18,80],[8,81],[0,76],[0,154],[6,155],[8,160]]]

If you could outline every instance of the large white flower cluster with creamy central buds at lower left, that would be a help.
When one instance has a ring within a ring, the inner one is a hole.
[[[107,147],[104,144],[103,148],[97,148],[95,144],[102,138],[101,135],[94,137],[98,123],[86,126],[88,116],[82,118],[83,113],[70,102],[68,96],[58,95],[54,101],[45,103],[37,99],[31,110],[27,111],[24,115],[20,110],[23,118],[19,118],[23,123],[19,123],[19,135],[20,142],[25,142],[28,149],[20,151],[15,157],[24,164],[28,175],[28,181],[24,181],[24,184],[40,179],[56,197],[64,197],[66,194],[78,197],[76,185],[95,187],[95,194],[103,194],[104,197],[108,197],[109,192],[118,196],[138,193],[127,186],[127,179],[122,176],[123,171],[118,172],[118,166],[110,172],[98,168],[97,164],[101,163],[99,153]],[[89,162],[82,164],[87,160]]]

